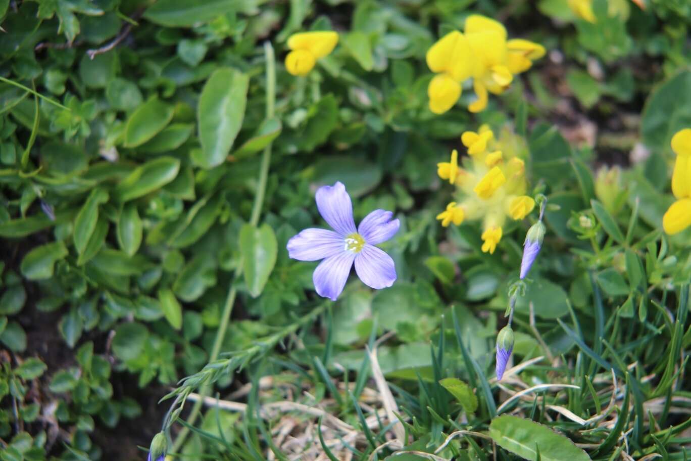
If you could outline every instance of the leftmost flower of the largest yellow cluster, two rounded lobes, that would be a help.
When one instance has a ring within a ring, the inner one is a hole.
[[[430,111],[442,114],[461,97],[461,82],[470,76],[470,48],[466,37],[454,30],[427,51],[427,66],[437,73],[427,87]]]

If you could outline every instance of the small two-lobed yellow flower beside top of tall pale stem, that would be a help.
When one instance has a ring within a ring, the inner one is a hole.
[[[300,32],[288,38],[292,51],[285,57],[285,69],[292,75],[306,75],[316,60],[331,53],[339,42],[339,35],[330,30]]]

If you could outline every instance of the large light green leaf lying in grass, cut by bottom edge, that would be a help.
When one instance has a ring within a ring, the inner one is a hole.
[[[549,427],[532,420],[512,415],[495,417],[489,425],[489,435],[503,449],[525,460],[542,461],[590,461],[590,457]]]

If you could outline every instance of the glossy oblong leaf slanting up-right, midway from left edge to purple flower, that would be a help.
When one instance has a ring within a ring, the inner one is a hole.
[[[138,167],[115,187],[113,194],[121,202],[145,196],[174,180],[180,170],[180,160],[160,157]]]

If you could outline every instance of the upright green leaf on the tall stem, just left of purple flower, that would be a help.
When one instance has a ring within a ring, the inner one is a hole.
[[[261,227],[243,225],[240,229],[240,254],[243,256],[247,290],[256,298],[264,290],[264,285],[276,264],[278,243],[274,229],[267,224]]]

